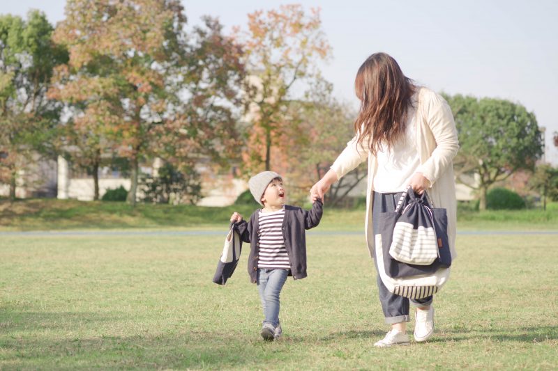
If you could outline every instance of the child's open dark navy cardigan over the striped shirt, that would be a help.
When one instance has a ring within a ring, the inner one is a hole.
[[[252,213],[250,221],[242,220],[234,224],[234,228],[239,232],[241,242],[250,242],[248,274],[252,283],[257,283],[259,210]],[[295,280],[306,277],[306,230],[319,224],[320,219],[322,219],[322,212],[322,200],[316,200],[310,211],[285,205],[282,232],[287,255],[289,255],[289,264],[291,265],[289,276],[292,276]]]

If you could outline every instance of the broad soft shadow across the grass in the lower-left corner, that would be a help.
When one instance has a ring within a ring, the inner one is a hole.
[[[129,320],[123,315],[18,312],[2,306],[0,369],[242,368],[262,364],[281,347],[255,334],[169,329],[142,333],[134,326],[133,335],[115,335],[126,332]]]

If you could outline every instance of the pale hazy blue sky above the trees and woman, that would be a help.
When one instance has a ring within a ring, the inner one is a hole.
[[[182,0],[188,25],[203,15],[225,26],[246,27],[248,13],[300,3],[321,8],[322,29],[333,55],[320,67],[339,100],[358,107],[356,70],[386,52],[407,77],[438,92],[495,97],[524,105],[545,127],[545,159],[558,164],[552,133],[558,95],[558,1],[397,0],[275,1]],[[42,10],[55,24],[66,0],[0,0],[0,13],[25,17]]]

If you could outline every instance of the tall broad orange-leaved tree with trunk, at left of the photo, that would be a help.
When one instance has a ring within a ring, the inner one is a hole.
[[[99,130],[128,158],[135,205],[139,164],[167,106],[182,7],[178,0],[68,0],[65,13],[54,40],[68,47],[70,61],[57,70],[57,94],[82,105],[77,127]]]

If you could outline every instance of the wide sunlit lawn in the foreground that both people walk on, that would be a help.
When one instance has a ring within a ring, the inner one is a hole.
[[[458,235],[435,337],[375,349],[387,326],[372,261],[361,235],[317,233],[327,218],[273,343],[246,251],[225,287],[211,282],[224,236],[1,235],[0,370],[556,369],[557,235]]]

